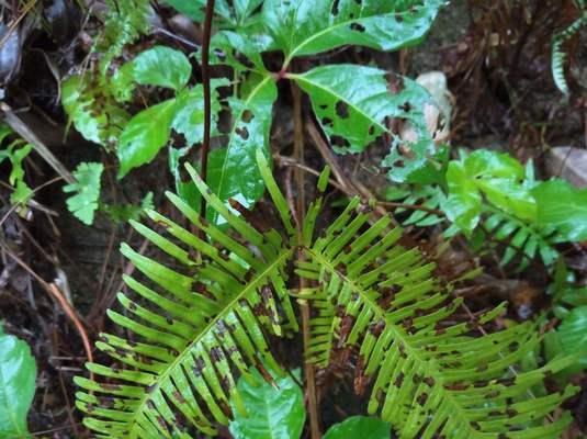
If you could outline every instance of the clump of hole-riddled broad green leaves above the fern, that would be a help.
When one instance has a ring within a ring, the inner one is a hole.
[[[202,20],[197,7],[182,1],[171,4],[194,20]],[[339,0],[319,2],[318,7],[307,1],[234,5],[219,1],[214,18],[219,32],[212,40],[211,61],[230,67],[234,77],[230,81],[213,81],[216,93],[212,103],[212,134],[223,146],[213,149],[207,160],[212,190],[225,203],[236,198],[246,207],[262,195],[255,155],[261,148],[270,157],[269,132],[278,98],[276,82],[281,79],[297,83],[308,94],[336,151],[359,153],[373,143],[384,143],[388,155],[383,165],[393,167],[390,178],[395,181],[403,181],[422,166],[434,148],[422,110],[431,101],[416,82],[357,65],[316,66],[301,74],[291,72],[290,68],[298,57],[345,45],[392,50],[416,44],[429,30],[441,4],[438,0],[366,7]],[[291,29],[296,29],[295,35]],[[269,52],[283,54],[280,71],[269,71],[264,66],[261,55]],[[169,145],[170,171],[176,176],[177,189],[192,205],[197,205],[199,193],[193,184],[183,183],[180,167],[182,157],[202,142],[203,134],[203,90],[201,85],[189,86],[191,77],[185,55],[168,47],[153,47],[109,74],[108,82],[100,82],[91,74],[71,77],[64,87],[64,106],[86,138],[108,149],[115,147],[120,178],[150,162]],[[171,89],[176,97],[131,116],[125,104],[133,101],[137,86]],[[221,109],[230,111],[232,126],[227,133],[216,128]],[[409,121],[417,138],[400,140],[388,125],[390,119]],[[187,145],[173,145],[178,135],[184,137]],[[211,215],[211,219],[217,219],[213,211]]]

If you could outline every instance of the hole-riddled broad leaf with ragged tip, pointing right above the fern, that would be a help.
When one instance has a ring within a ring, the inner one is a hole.
[[[379,138],[390,140],[383,165],[388,177],[404,181],[433,154],[433,142],[424,117],[428,92],[415,81],[384,70],[354,65],[316,67],[290,75],[309,94],[312,106],[338,153],[360,153]],[[400,140],[391,132],[388,119],[410,122],[418,138]]]

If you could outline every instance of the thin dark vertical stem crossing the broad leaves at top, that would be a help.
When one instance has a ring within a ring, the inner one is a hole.
[[[204,21],[204,37],[202,42],[202,85],[204,86],[204,142],[202,143],[202,158],[200,175],[204,183],[207,178],[207,156],[210,151],[210,132],[212,124],[212,104],[210,93],[210,35],[212,32],[212,16],[214,15],[214,0],[206,1],[206,18]],[[206,200],[202,196],[200,214],[206,217]]]

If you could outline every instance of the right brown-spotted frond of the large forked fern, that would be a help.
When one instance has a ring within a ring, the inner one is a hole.
[[[297,263],[297,273],[318,285],[305,295],[318,309],[309,360],[326,367],[332,349],[358,346],[359,376],[374,378],[369,412],[380,412],[402,438],[557,437],[568,418],[548,426],[541,419],[574,390],[535,399],[528,391],[568,360],[510,375],[539,342],[533,328],[474,338],[499,307],[478,322],[448,324],[461,300],[440,288],[419,251],[397,245],[402,233],[388,229],[390,218],[366,226],[368,217],[353,200]]]

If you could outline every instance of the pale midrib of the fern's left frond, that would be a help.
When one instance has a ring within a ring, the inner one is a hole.
[[[149,401],[150,393],[154,393],[156,390],[158,390],[163,381],[166,381],[169,378],[169,374],[171,371],[178,367],[178,364],[181,364],[184,358],[189,354],[191,354],[191,350],[195,345],[197,345],[202,338],[212,329],[214,326],[223,318],[226,317],[226,314],[232,312],[237,305],[238,302],[247,295],[252,289],[257,288],[259,283],[261,283],[263,280],[266,280],[273,270],[275,270],[278,267],[281,266],[281,263],[289,259],[294,249],[289,248],[279,255],[279,257],[258,277],[256,277],[251,282],[249,282],[235,297],[224,306],[224,308],[216,314],[216,316],[200,331],[200,334],[193,339],[192,342],[190,342],[183,351],[166,368],[166,370],[160,373],[157,376],[156,382],[153,384],[153,391],[147,393],[145,392],[145,396],[140,401],[140,404],[137,406],[137,409],[135,410],[135,415],[133,416],[133,419],[129,421],[131,425],[131,437],[135,438],[137,436],[133,436],[135,434],[134,428],[137,425],[137,417],[139,414],[142,414],[145,410],[145,406],[147,402]],[[147,408],[148,410],[148,408]]]

